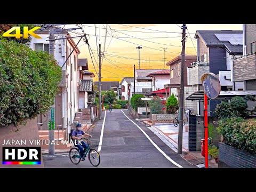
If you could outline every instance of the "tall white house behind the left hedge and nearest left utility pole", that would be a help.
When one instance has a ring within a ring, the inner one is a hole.
[[[54,59],[57,60],[58,65],[61,67],[66,60],[67,62],[62,67],[60,91],[55,97],[54,119],[56,127],[58,126],[62,130],[70,130],[78,111],[78,85],[80,82],[78,55],[80,50],[76,47],[73,38],[65,29],[58,27],[55,27],[55,29],[58,30],[58,35],[55,35],[55,38],[58,36],[58,38],[63,39],[55,41]],[[31,37],[30,48],[35,51],[49,52],[49,28],[42,27],[35,31],[35,33],[42,38]],[[68,57],[71,51],[73,53]],[[41,123],[38,125],[38,128],[48,129],[49,118],[49,114],[38,115],[38,123]]]

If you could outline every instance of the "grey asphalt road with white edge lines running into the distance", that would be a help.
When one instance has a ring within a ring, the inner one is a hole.
[[[136,121],[126,109],[114,109],[111,113],[109,110],[103,111],[102,118],[92,131],[92,143],[99,145],[105,113],[102,147],[99,152],[101,161],[98,167],[195,167],[168,147],[145,124]],[[95,149],[98,150],[98,147]],[[43,159],[45,167],[93,167],[88,158],[78,165],[72,164],[68,154],[44,156]]]

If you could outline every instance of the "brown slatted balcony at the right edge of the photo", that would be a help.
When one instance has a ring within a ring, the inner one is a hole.
[[[233,61],[234,81],[256,79],[256,54],[247,54],[245,57]]]

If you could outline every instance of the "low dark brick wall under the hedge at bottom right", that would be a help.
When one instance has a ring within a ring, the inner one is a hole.
[[[220,142],[218,167],[256,168],[256,156]]]

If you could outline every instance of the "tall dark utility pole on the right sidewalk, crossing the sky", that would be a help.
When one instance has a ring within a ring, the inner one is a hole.
[[[185,42],[186,24],[182,25],[182,51],[181,51],[181,74],[180,74],[180,104],[179,104],[179,135],[178,135],[178,154],[182,154],[183,139],[183,114],[184,114],[184,70],[185,70]]]

